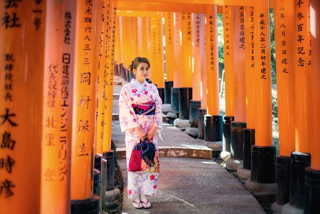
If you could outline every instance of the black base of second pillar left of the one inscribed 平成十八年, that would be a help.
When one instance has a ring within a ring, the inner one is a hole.
[[[243,129],[246,122],[231,122],[231,157],[236,160],[243,160]]]

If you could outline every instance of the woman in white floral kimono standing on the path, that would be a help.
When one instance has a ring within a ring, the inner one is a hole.
[[[158,138],[162,139],[163,130],[162,100],[156,86],[146,81],[149,60],[136,57],[129,68],[135,79],[123,85],[119,97],[119,121],[121,131],[125,132],[127,168],[132,149],[145,139],[154,144],[158,159]],[[128,171],[128,197],[135,208],[151,207],[147,196],[156,196],[158,172],[158,168],[154,173]]]

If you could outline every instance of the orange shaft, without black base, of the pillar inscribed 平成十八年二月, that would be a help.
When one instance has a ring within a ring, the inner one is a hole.
[[[256,110],[255,142],[257,146],[272,145],[271,112],[271,62],[270,62],[270,18],[268,1],[254,8],[255,75],[254,99]]]

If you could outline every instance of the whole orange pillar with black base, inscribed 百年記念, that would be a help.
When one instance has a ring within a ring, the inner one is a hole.
[[[294,1],[295,151],[291,153],[290,206],[303,210],[305,167],[311,152],[311,37],[310,5]]]

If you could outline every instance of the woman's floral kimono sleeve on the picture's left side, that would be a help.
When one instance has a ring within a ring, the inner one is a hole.
[[[131,92],[129,91],[128,84],[122,87],[119,96],[119,121],[122,132],[139,126],[138,119],[132,108]]]

